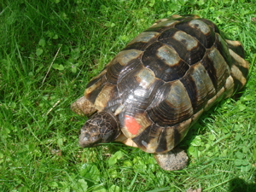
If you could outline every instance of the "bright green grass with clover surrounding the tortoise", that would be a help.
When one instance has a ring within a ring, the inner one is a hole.
[[[255,191],[255,1],[0,0],[1,191]],[[205,113],[181,146],[189,166],[165,172],[119,143],[79,148],[84,86],[155,20],[196,14],[240,40],[247,87]]]

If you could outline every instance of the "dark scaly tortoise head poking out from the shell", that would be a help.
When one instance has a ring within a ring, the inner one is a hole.
[[[112,113],[96,113],[82,127],[79,145],[82,148],[90,148],[99,143],[112,142],[120,132],[118,119]]]

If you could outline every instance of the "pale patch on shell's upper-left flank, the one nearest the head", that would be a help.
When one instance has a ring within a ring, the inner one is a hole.
[[[119,62],[120,65],[125,66],[129,61],[137,59],[140,55],[143,54],[143,51],[137,49],[129,49],[120,51],[118,55],[115,56],[111,63]]]

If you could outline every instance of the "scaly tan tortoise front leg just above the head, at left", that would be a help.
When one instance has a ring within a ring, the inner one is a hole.
[[[74,113],[82,116],[90,115],[97,111],[94,104],[86,99],[85,96],[81,96],[77,101],[73,102],[71,105],[71,109]]]

